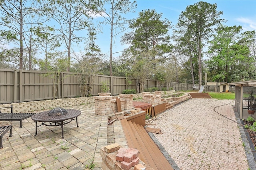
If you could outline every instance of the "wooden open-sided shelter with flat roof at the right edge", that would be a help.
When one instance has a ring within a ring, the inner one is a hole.
[[[256,111],[256,80],[228,83],[230,88],[235,88],[235,106],[240,119],[254,117]]]

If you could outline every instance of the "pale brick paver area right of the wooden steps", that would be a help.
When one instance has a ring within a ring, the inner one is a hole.
[[[232,100],[190,99],[162,113],[149,127],[161,128],[164,134],[155,136],[181,170],[247,170],[232,105]]]

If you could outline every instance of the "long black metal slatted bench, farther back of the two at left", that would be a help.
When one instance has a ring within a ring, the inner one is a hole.
[[[20,128],[22,128],[22,120],[32,117],[36,113],[13,113],[12,105],[10,107],[1,107],[0,109],[10,108],[11,113],[1,113],[0,111],[0,121],[20,121]]]

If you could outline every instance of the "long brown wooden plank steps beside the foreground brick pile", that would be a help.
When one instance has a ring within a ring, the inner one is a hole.
[[[126,119],[122,119],[121,124],[128,147],[139,150],[140,160],[155,170],[173,170],[142,125],[132,123]]]

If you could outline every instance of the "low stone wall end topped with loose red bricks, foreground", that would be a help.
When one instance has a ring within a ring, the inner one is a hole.
[[[119,144],[110,144],[100,149],[102,170],[146,170],[139,160],[139,151],[134,148],[120,148]],[[147,166],[147,170],[151,170]]]

